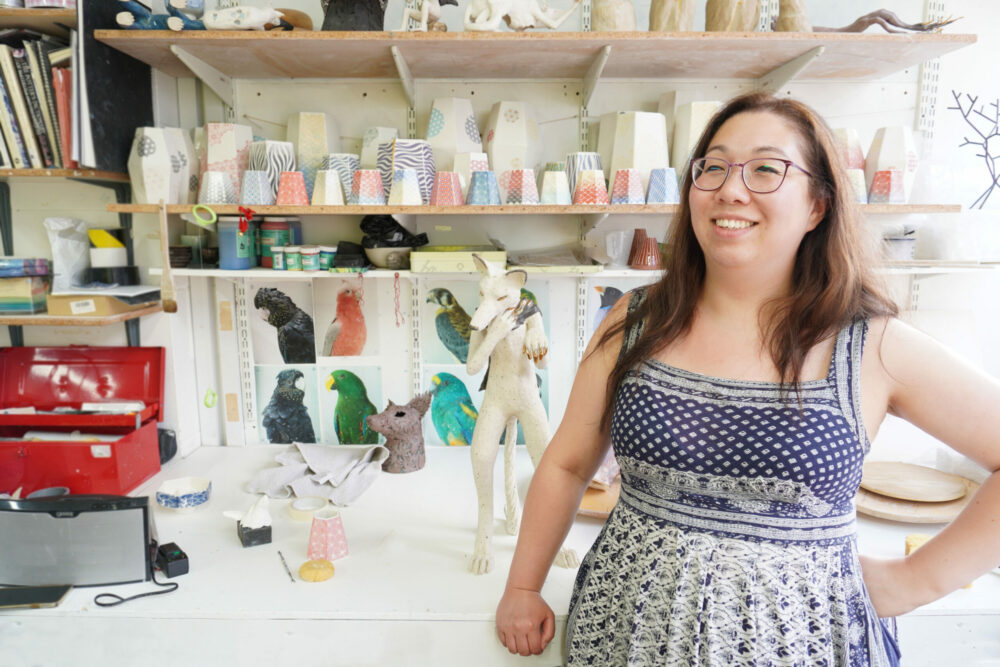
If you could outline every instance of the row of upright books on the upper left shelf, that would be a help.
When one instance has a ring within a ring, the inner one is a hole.
[[[33,30],[0,30],[0,168],[63,169],[72,159],[71,49]]]

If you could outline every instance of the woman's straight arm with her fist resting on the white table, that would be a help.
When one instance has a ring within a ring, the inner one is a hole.
[[[600,430],[600,421],[622,336],[600,348],[597,342],[610,326],[625,318],[627,306],[628,295],[618,300],[594,333],[576,372],[559,429],[531,478],[507,588],[497,607],[497,634],[511,653],[537,655],[555,634],[555,617],[540,591],[573,524],[583,492],[610,444],[608,432]]]

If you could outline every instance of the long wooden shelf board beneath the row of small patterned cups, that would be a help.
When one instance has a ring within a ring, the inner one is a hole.
[[[0,172],[2,175],[2,172]],[[219,215],[239,215],[236,204],[211,207]],[[576,206],[253,206],[257,215],[673,215],[677,204],[576,205]],[[156,213],[156,204],[108,204],[111,213]],[[865,215],[907,215],[913,213],[960,213],[961,204],[862,204]],[[170,204],[167,213],[190,213],[189,204]],[[204,217],[204,212],[199,212]]]

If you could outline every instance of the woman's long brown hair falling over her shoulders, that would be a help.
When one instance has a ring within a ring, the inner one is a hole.
[[[892,316],[898,308],[874,273],[872,244],[861,229],[861,215],[833,134],[819,114],[805,104],[769,93],[748,93],[730,100],[709,121],[693,157],[705,154],[727,120],[741,113],[766,112],[786,120],[799,134],[810,194],[825,204],[826,214],[799,244],[792,269],[792,293],[767,304],[761,321],[764,344],[787,397],[798,396],[806,354],[824,338],[851,322]],[[663,277],[651,285],[636,311],[602,336],[598,347],[643,320],[643,331],[619,356],[608,378],[601,428],[610,425],[618,385],[630,369],[682,336],[691,326],[705,281],[705,255],[691,226],[691,170],[681,186],[681,201],[667,233],[669,258]]]

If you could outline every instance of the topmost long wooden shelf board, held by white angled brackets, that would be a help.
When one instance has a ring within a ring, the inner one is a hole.
[[[967,34],[658,32],[228,32],[97,30],[96,38],[171,76],[193,76],[183,47],[234,78],[583,79],[611,47],[607,79],[759,78],[816,48],[799,79],[878,79],[976,41]]]

